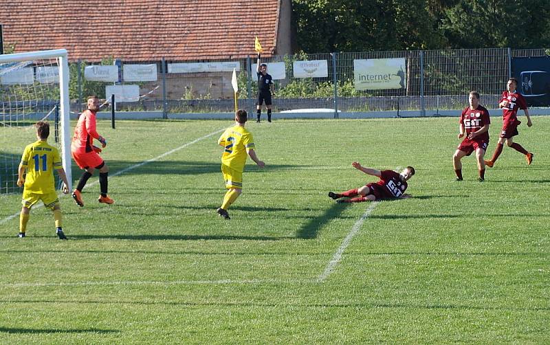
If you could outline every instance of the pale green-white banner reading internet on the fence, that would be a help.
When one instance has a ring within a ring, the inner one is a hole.
[[[405,89],[405,58],[353,60],[355,89]]]

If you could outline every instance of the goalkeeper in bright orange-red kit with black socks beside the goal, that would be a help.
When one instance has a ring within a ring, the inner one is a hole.
[[[97,139],[102,147],[107,146],[107,140],[96,131],[96,113],[99,110],[99,100],[97,96],[88,97],[88,109],[83,111],[78,118],[78,123],[74,129],[73,142],[71,144],[71,153],[74,162],[81,169],[86,170],[78,181],[78,186],[73,190],[73,199],[80,207],[84,206],[82,192],[86,182],[94,174],[94,170],[99,169],[100,203],[114,203],[115,201],[107,195],[107,177],[109,168],[103,159],[98,155],[101,149],[94,146],[94,139]]]

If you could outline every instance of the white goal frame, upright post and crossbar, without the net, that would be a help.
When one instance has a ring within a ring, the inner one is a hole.
[[[66,49],[43,50],[40,52],[27,52],[0,55],[0,64],[20,63],[23,61],[35,61],[43,59],[56,59],[59,70],[59,114],[61,122],[61,159],[63,169],[69,182],[69,190],[72,190],[71,172],[71,125],[69,122],[69,62]]]

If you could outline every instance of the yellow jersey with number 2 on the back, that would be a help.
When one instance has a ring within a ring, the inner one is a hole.
[[[256,147],[252,133],[238,124],[226,129],[219,137],[218,144],[225,146],[221,163],[241,172],[248,157],[247,149]]]

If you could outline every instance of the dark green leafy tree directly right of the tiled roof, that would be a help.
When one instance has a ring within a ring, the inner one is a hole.
[[[434,49],[444,43],[423,0],[294,0],[298,49],[364,52]]]

